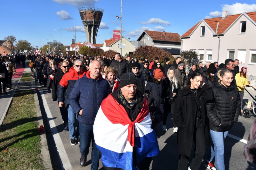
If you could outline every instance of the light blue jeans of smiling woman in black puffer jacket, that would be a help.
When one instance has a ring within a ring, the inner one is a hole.
[[[228,131],[225,132],[217,132],[210,129],[211,137],[212,137],[212,147],[208,154],[208,160],[212,161],[215,157],[215,162],[218,170],[224,170],[224,139],[228,135]]]

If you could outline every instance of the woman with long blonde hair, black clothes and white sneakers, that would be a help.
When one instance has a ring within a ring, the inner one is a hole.
[[[178,91],[180,89],[179,82],[178,82],[177,78],[174,75],[174,69],[173,68],[168,69],[167,78],[165,78],[164,81],[166,81],[165,85],[167,85],[167,87],[165,89],[167,91],[165,93],[166,98],[165,98],[165,102],[164,102],[164,118],[163,118],[162,129],[164,131],[167,131],[167,128],[166,128],[167,116],[170,112],[170,109],[171,109],[171,113],[173,115],[174,100],[176,99]],[[173,119],[172,119],[172,123],[173,123],[173,132],[177,132],[178,128],[177,128],[177,125],[175,124]]]

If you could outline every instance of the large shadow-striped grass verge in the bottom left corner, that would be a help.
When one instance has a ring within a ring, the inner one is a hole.
[[[33,91],[16,91],[0,129],[0,169],[43,170],[39,133]]]

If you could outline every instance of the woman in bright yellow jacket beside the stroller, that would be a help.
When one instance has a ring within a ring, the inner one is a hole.
[[[240,99],[241,99],[241,113],[243,112],[243,99],[244,99],[244,87],[248,84],[247,80],[247,67],[242,67],[240,73],[236,74],[236,86],[238,88]]]

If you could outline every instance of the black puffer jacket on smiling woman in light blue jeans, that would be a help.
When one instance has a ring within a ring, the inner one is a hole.
[[[238,121],[239,113],[241,113],[240,95],[233,82],[230,87],[226,88],[215,81],[212,91],[214,99],[206,103],[210,129],[225,132]]]

